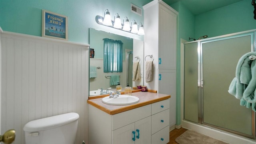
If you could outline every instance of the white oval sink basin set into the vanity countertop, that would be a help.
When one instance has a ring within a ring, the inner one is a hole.
[[[105,98],[102,98],[102,102],[105,104],[110,105],[129,105],[129,104],[135,104],[139,102],[139,98],[136,96],[129,96],[129,95],[119,95],[117,98],[109,98],[109,96],[106,96]]]

